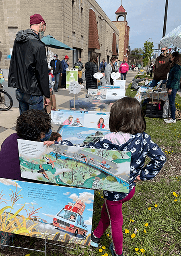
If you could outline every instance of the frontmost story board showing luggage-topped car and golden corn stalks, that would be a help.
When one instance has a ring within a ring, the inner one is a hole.
[[[0,178],[0,231],[90,245],[94,190]]]

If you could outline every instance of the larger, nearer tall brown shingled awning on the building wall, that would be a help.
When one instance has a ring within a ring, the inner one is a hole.
[[[95,11],[89,9],[88,48],[100,49]]]

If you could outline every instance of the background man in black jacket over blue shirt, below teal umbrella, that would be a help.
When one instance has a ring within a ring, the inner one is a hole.
[[[50,62],[50,66],[53,68],[53,76],[55,77],[55,92],[58,92],[59,77],[62,77],[62,62],[58,60],[58,55],[53,55],[53,60]]]

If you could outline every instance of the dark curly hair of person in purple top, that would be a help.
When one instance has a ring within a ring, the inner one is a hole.
[[[30,109],[23,112],[16,120],[16,132],[22,139],[40,140],[41,133],[51,128],[51,119],[43,110]]]

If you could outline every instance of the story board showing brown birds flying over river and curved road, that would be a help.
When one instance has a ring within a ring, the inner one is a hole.
[[[18,139],[21,177],[38,181],[128,192],[131,152]]]

